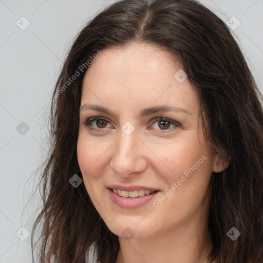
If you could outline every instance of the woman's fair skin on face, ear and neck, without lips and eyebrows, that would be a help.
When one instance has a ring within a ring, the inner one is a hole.
[[[209,181],[212,171],[221,172],[228,164],[206,140],[196,91],[187,78],[179,83],[174,77],[179,69],[182,64],[169,51],[132,43],[102,50],[83,80],[81,108],[91,103],[114,113],[80,110],[77,152],[91,201],[109,230],[119,236],[117,263],[202,263],[212,249],[206,229]],[[140,110],[160,105],[190,114],[165,111],[139,116]],[[90,117],[106,122],[95,120],[87,126]],[[180,125],[163,124],[156,117]],[[121,129],[127,121],[135,127],[130,135]],[[206,159],[155,208],[153,202],[202,156]],[[110,199],[110,184],[144,185],[160,192],[140,208],[124,209]],[[131,239],[122,235],[127,227],[134,232]]]

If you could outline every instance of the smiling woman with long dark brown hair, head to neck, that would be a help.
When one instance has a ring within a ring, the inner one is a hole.
[[[196,1],[98,14],[51,98],[38,261],[262,262],[258,94],[227,25]]]

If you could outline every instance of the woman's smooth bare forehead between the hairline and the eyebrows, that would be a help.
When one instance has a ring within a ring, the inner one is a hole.
[[[155,45],[109,47],[86,71],[81,104],[92,101],[116,110],[138,111],[165,104],[198,111],[197,95],[189,80],[178,81],[177,72],[182,70],[175,55]]]

